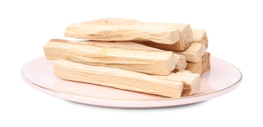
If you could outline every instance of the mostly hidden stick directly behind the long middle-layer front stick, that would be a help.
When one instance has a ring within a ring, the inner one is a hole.
[[[134,42],[93,42],[93,41],[89,41],[89,42],[95,43],[97,45],[102,45],[102,46],[142,49],[142,50],[151,50],[151,51],[163,51],[158,48],[153,48],[153,47],[149,47],[149,46],[146,46],[140,43],[134,43]],[[186,67],[185,57],[183,55],[174,53],[174,58],[175,58],[175,69],[185,69]]]

